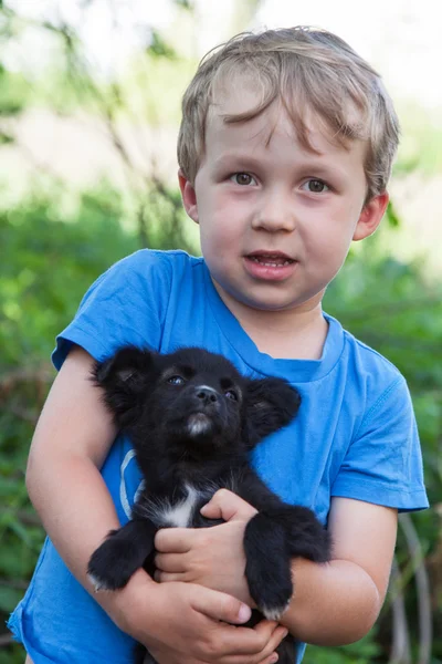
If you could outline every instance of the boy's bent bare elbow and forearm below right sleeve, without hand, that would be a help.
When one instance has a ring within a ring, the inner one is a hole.
[[[387,593],[397,521],[396,509],[333,498],[333,560],[293,562],[295,592],[282,624],[317,645],[344,645],[365,636]]]

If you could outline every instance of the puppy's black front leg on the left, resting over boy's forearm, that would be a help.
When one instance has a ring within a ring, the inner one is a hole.
[[[112,530],[92,554],[87,568],[95,590],[117,590],[126,585],[154,550],[157,530],[149,519],[135,519],[119,530]]]

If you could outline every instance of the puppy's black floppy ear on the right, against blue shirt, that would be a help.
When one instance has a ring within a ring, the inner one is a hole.
[[[252,449],[262,438],[286,426],[295,417],[301,395],[282,378],[250,381],[244,395],[243,437]]]

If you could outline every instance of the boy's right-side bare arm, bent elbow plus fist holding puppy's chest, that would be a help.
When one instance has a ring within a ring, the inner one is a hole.
[[[203,583],[248,601],[240,521],[254,513],[244,500],[221,490],[204,508],[204,516],[229,523],[207,531],[161,530],[156,538],[161,551],[156,562],[162,570],[158,580]],[[295,590],[281,623],[301,641],[343,645],[361,639],[379,614],[394,550],[397,510],[333,498],[328,527],[335,542],[333,560],[326,564],[293,561]],[[231,583],[222,574],[225,568],[238,568],[235,589],[225,585]]]

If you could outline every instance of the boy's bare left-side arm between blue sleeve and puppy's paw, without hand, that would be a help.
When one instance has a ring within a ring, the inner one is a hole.
[[[83,560],[119,522],[99,474],[116,429],[90,380],[93,360],[74,347],[55,377],[28,459],[27,488],[67,566],[88,585]]]

